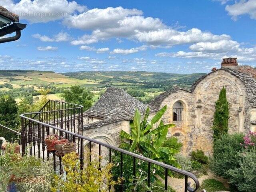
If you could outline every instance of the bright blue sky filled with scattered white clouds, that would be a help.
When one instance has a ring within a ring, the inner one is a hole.
[[[0,69],[210,72],[256,67],[256,0],[0,0],[28,24]],[[11,34],[8,36],[14,36]]]

